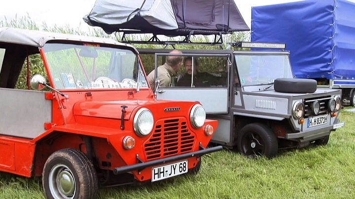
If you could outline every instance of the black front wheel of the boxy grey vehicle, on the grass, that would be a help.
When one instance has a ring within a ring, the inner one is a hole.
[[[278,153],[278,141],[271,129],[260,123],[243,127],[238,134],[238,151],[247,157],[273,158]]]

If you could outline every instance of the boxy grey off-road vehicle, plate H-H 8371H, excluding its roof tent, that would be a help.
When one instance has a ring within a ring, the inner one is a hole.
[[[208,118],[218,120],[212,142],[237,146],[246,156],[271,158],[279,149],[327,144],[330,133],[344,126],[338,119],[341,91],[317,89],[314,80],[293,78],[283,44],[237,42],[231,46],[253,51],[181,50],[177,55],[192,58],[193,67],[198,67],[192,71],[197,74],[190,75],[188,85],[179,84],[186,75],[182,66],[172,87],[159,87],[156,81],[156,98],[201,102]],[[156,69],[164,64],[171,51],[138,50],[147,73],[153,65]],[[199,77],[202,72],[211,75]]]

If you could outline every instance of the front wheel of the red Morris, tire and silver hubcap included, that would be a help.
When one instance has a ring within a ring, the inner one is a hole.
[[[59,177],[62,177],[60,183]],[[62,149],[49,156],[43,168],[42,185],[48,199],[94,199],[98,193],[93,164],[75,149]]]

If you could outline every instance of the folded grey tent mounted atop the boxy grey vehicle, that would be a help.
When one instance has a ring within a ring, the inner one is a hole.
[[[157,35],[183,36],[179,43],[191,42],[191,35],[215,35],[213,43],[222,43],[222,34],[250,30],[234,0],[96,0],[83,19],[108,34],[122,32],[122,41],[126,34],[151,33],[144,43],[158,44],[164,42]]]

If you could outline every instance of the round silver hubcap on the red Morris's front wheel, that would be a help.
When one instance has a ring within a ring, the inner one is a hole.
[[[58,190],[65,196],[72,196],[75,190],[75,181],[71,172],[63,170],[58,174],[57,178]]]

